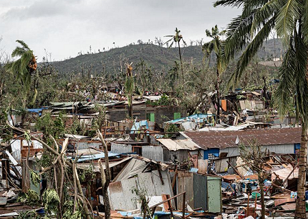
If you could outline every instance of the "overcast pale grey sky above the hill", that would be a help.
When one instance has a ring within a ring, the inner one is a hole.
[[[52,60],[79,51],[123,47],[141,39],[181,29],[190,42],[205,38],[205,29],[226,27],[238,9],[213,8],[214,0],[1,0],[0,49],[11,53],[24,40],[38,60],[44,49]],[[166,40],[166,38],[163,38]]]

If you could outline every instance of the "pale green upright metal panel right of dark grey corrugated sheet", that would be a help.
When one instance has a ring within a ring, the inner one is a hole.
[[[221,178],[207,177],[207,206],[209,212],[221,212],[221,202]]]

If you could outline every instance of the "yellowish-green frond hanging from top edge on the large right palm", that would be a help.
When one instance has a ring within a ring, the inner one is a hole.
[[[301,3],[298,0],[287,0],[277,14],[276,29],[279,37],[285,42],[293,33],[295,22],[300,18]]]

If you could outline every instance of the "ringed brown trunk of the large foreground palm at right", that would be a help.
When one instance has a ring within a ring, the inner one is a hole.
[[[295,218],[306,219],[305,203],[305,183],[306,183],[306,166],[307,166],[307,129],[302,126],[302,136],[300,138],[300,157],[298,161],[298,185]]]

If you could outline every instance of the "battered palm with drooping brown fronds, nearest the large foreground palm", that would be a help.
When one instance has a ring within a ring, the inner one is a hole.
[[[222,58],[222,44],[224,43],[221,40],[221,36],[224,36],[226,31],[219,31],[217,25],[211,28],[211,31],[208,29],[205,30],[205,34],[207,37],[212,38],[210,42],[206,42],[203,44],[202,51],[205,53],[205,57],[209,57],[211,53],[214,51],[216,55],[216,94],[217,94],[217,111],[216,111],[216,123],[220,123],[220,75],[226,69],[226,63]]]

